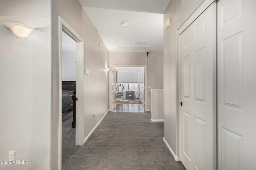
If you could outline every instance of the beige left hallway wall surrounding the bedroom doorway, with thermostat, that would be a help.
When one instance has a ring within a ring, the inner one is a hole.
[[[58,16],[61,16],[85,41],[84,138],[108,111],[108,50],[78,0],[52,0],[52,169],[58,164]],[[102,47],[99,47],[99,43]],[[99,107],[100,104],[100,107]],[[94,119],[94,113],[97,113]]]

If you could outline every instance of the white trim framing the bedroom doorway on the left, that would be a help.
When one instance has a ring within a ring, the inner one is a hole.
[[[84,39],[59,16],[59,125],[58,125],[58,170],[62,158],[62,31],[76,41],[76,145],[84,144]]]

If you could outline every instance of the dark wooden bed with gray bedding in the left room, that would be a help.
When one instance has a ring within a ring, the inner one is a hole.
[[[72,127],[76,127],[76,81],[62,81],[62,115],[73,111]]]

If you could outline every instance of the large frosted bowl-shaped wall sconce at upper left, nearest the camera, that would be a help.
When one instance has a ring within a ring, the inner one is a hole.
[[[4,27],[10,29],[16,37],[21,39],[28,38],[36,30],[33,27],[13,22],[4,23]]]

